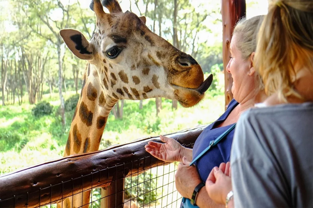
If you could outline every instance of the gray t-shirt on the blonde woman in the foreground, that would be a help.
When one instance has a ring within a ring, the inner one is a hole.
[[[313,103],[244,112],[230,162],[236,208],[313,207]]]

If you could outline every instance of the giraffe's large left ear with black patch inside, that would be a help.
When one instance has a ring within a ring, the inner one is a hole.
[[[83,60],[92,59],[93,52],[91,44],[80,31],[63,29],[60,30],[59,34],[66,46],[75,56]]]

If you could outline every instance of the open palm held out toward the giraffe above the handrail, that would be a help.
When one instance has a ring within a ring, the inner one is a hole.
[[[182,145],[173,138],[167,138],[162,135],[160,135],[160,138],[164,143],[150,141],[145,145],[146,151],[164,162],[180,161]]]

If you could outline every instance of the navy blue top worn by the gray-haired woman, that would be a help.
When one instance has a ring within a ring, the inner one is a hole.
[[[216,126],[218,126],[228,117],[230,112],[232,112],[232,110],[238,104],[239,103],[236,100],[232,99],[223,115],[221,115],[221,117],[219,117],[216,121],[211,123],[203,130],[192,148],[192,159],[197,157],[205,148],[207,148],[210,144],[210,141],[218,138],[219,135],[224,133],[233,125],[230,124],[228,126],[216,128]],[[231,130],[221,141],[218,142],[217,145],[210,148],[208,152],[204,153],[203,156],[194,163],[198,168],[198,172],[202,181],[205,182],[207,180],[213,167],[218,167],[222,162],[229,161],[233,135],[234,129]]]

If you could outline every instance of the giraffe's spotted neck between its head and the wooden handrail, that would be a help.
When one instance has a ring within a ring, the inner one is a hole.
[[[64,156],[93,152],[99,149],[108,116],[118,99],[105,93],[97,73],[95,67],[87,65]]]

